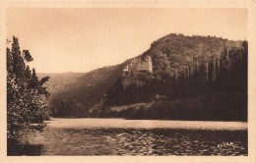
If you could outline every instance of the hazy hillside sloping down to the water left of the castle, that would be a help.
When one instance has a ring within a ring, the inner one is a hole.
[[[38,74],[49,76],[49,105],[57,117],[85,117],[122,73],[122,65],[104,67],[89,73]]]

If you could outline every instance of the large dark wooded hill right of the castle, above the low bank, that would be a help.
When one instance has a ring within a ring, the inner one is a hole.
[[[247,42],[195,37],[170,34],[154,42],[143,54],[152,56],[153,74],[142,73],[126,89],[122,88],[121,79],[116,81],[108,89],[106,104],[150,102],[156,97],[168,100],[195,97],[217,90],[246,92]],[[171,45],[177,45],[173,41],[184,46],[179,45],[182,50],[178,55],[175,50],[167,50]],[[194,45],[192,50],[184,50],[191,44]],[[205,48],[199,49],[199,46]]]

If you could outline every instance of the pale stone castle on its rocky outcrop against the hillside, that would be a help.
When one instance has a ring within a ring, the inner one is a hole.
[[[122,73],[122,84],[125,88],[126,85],[138,77],[139,73],[143,72],[153,72],[152,69],[152,58],[151,56],[146,56],[144,61],[141,58],[133,58],[124,67]]]

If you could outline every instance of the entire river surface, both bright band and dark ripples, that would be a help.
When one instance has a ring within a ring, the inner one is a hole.
[[[52,119],[30,133],[22,155],[248,155],[247,124]],[[30,149],[30,150],[29,150]]]

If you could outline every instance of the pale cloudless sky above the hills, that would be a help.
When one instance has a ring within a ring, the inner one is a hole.
[[[89,72],[138,56],[169,33],[247,39],[247,10],[231,8],[9,8],[7,37],[37,73]]]

